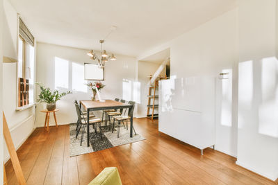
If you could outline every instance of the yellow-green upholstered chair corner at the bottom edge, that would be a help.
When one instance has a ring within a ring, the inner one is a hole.
[[[107,167],[95,177],[88,185],[122,185],[119,172],[116,167]]]

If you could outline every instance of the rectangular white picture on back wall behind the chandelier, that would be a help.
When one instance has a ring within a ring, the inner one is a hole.
[[[85,80],[104,80],[104,68],[97,64],[84,63]]]

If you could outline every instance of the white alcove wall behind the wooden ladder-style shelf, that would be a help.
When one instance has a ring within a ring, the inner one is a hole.
[[[147,95],[149,95],[149,86],[147,85],[147,83],[150,80],[148,76],[154,75],[154,73],[156,72],[158,67],[160,67],[160,65],[161,64],[154,63],[154,62],[144,62],[144,61],[138,62],[138,82],[140,83],[140,103],[138,103],[137,114],[138,117],[140,118],[147,116],[147,102],[148,102]],[[161,72],[161,75],[163,76],[165,75],[165,69]],[[155,103],[158,103],[158,98],[156,98]],[[155,114],[156,113],[158,113],[158,109],[155,109]]]

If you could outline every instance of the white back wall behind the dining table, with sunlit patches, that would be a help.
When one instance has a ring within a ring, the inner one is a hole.
[[[52,44],[37,44],[37,82],[42,82],[51,89],[61,91],[73,91],[58,101],[57,112],[58,124],[68,124],[76,122],[76,110],[74,100],[89,99],[92,91],[84,85],[83,64],[93,62],[86,55],[88,51],[84,49],[74,49],[66,46]],[[106,63],[104,89],[101,89],[101,98],[114,99],[124,98],[126,100],[136,99],[136,58],[116,55],[117,60]],[[63,68],[56,68],[59,64]],[[55,76],[58,75],[58,76]],[[58,79],[63,87],[56,87]],[[133,91],[134,89],[134,91]],[[39,93],[39,91],[38,91]],[[42,104],[38,105],[36,126],[44,126],[45,114],[42,114]],[[100,115],[99,115],[100,116]],[[50,117],[49,125],[54,125],[54,119]]]

